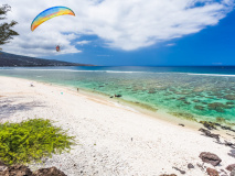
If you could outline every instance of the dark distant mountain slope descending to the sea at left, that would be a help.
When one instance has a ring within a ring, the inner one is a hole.
[[[0,67],[40,67],[40,66],[94,66],[94,65],[67,63],[55,59],[42,59],[0,52]]]

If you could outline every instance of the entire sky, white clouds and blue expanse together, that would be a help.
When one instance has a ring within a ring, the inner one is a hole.
[[[9,53],[106,66],[235,65],[234,0],[22,0],[32,3],[25,14],[22,1],[3,1],[19,22]],[[76,18],[54,18],[31,33],[32,19],[58,1]]]

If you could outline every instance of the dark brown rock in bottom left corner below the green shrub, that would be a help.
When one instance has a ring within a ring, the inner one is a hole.
[[[30,168],[23,165],[10,166],[0,174],[2,174],[2,176],[33,176],[33,173],[30,170]]]

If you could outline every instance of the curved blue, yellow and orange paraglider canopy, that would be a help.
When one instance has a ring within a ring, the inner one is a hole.
[[[40,24],[45,21],[64,14],[75,15],[75,13],[66,7],[53,7],[41,12],[32,22],[31,31],[34,31]]]

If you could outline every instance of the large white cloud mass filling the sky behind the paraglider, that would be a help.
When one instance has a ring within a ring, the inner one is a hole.
[[[9,20],[19,22],[20,36],[2,48],[24,55],[53,55],[62,52],[79,53],[73,40],[82,35],[97,35],[105,46],[125,51],[147,47],[163,41],[200,32],[233,10],[234,0],[2,0],[12,7]],[[196,6],[200,4],[200,6]],[[32,20],[41,11],[65,6],[76,16],[54,18],[34,32]],[[102,45],[104,45],[102,44]]]

